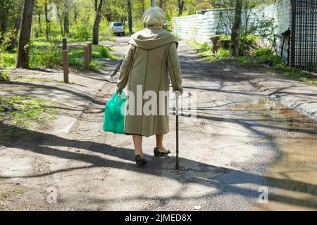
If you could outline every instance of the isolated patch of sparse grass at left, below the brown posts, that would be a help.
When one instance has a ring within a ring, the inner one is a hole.
[[[56,118],[56,108],[53,106],[52,101],[43,98],[0,96],[0,121],[20,127],[45,124],[48,120]]]

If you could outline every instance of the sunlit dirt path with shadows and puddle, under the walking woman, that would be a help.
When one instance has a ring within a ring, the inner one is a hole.
[[[122,54],[127,38],[117,39]],[[201,62],[182,41],[179,52],[185,89],[197,93],[197,119],[180,119],[180,171],[173,116],[172,154],[154,158],[146,138],[144,168],[135,166],[130,136],[101,131],[114,84],[100,81],[69,134],[32,131],[0,148],[0,209],[316,209],[316,124],[268,98],[254,82],[262,75]]]

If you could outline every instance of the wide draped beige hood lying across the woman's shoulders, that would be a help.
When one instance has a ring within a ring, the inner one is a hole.
[[[141,49],[155,49],[170,42],[175,42],[178,46],[178,41],[173,34],[159,27],[146,27],[139,32],[132,34],[129,44],[137,46]]]

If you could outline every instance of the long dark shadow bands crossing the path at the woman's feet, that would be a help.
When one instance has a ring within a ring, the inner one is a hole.
[[[0,122],[0,127],[8,130],[6,124]],[[216,167],[206,163],[180,158],[180,171],[174,168],[175,158],[155,158],[154,156],[147,155],[149,164],[146,167],[136,167],[133,162],[134,150],[128,148],[118,148],[109,146],[106,143],[97,143],[93,141],[80,141],[64,139],[52,134],[43,134],[37,131],[30,131],[14,127],[17,134],[26,134],[23,139],[15,141],[14,145],[10,143],[1,143],[2,146],[19,148],[23,150],[30,150],[34,153],[43,155],[51,155],[57,158],[68,160],[78,160],[87,162],[90,165],[84,167],[57,169],[53,172],[46,174],[35,174],[27,176],[18,176],[24,178],[36,178],[40,176],[47,176],[61,172],[68,172],[75,169],[89,169],[92,167],[111,167],[118,169],[126,169],[128,171],[138,172],[142,174],[150,174],[152,176],[164,176],[167,179],[173,179],[180,182],[180,184],[201,184],[211,188],[216,188],[216,193],[213,195],[235,194],[243,195],[246,197],[258,198],[258,190],[249,189],[240,186],[240,184],[256,184],[259,186],[267,185],[270,181],[271,187],[282,188],[283,190],[298,191],[300,193],[309,193],[316,196],[316,185],[308,184],[301,181],[293,181],[290,179],[275,179],[269,176],[261,176],[258,174],[251,174],[249,172],[242,172],[240,170],[228,169],[225,167]],[[98,154],[82,154],[68,150],[60,150],[59,146],[66,146],[70,148],[82,148]],[[99,154],[111,155],[122,160],[109,160],[99,156]],[[0,176],[0,179],[11,179],[13,176]],[[278,184],[278,185],[277,185]],[[211,195],[212,196],[212,195]],[[281,203],[302,206],[302,201],[288,197],[286,195],[275,195],[274,200]],[[305,200],[306,206],[316,207],[316,201]]]

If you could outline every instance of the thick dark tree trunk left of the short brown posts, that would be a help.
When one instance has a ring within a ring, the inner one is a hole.
[[[25,47],[30,42],[34,1],[35,0],[24,0],[20,27],[20,30],[23,30],[23,32],[19,33],[16,68],[29,68],[29,50]]]

